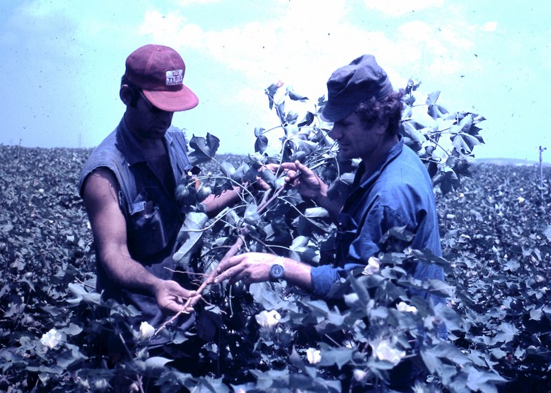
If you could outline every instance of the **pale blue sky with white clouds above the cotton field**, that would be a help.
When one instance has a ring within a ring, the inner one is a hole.
[[[253,153],[255,127],[278,125],[271,83],[307,109],[334,70],[373,54],[395,89],[414,78],[422,101],[440,91],[484,116],[477,158],[538,160],[541,146],[551,161],[550,16],[547,0],[3,0],[0,144],[95,147],[125,110],[126,57],[157,43],[183,56],[200,100],[173,125],[217,136],[220,153]]]

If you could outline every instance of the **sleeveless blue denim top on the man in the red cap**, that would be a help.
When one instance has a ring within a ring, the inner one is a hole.
[[[191,168],[187,159],[187,144],[183,131],[170,127],[165,134],[165,146],[169,156],[170,184],[163,184],[149,167],[136,139],[128,131],[124,118],[118,127],[101,142],[90,155],[81,172],[79,191],[95,169],[110,169],[118,182],[118,202],[127,224],[127,244],[131,257],[140,262],[150,273],[161,279],[176,279],[185,288],[187,275],[174,276],[172,259],[176,237],[183,224],[174,197],[176,185],[183,173]],[[98,255],[96,254],[98,259]],[[158,327],[167,316],[160,312],[156,299],[146,291],[127,290],[112,281],[101,262],[97,263],[96,290],[103,291],[105,299],[115,299],[121,304],[132,305],[141,312],[135,323],[147,321]],[[190,326],[194,318],[183,321],[183,328]]]

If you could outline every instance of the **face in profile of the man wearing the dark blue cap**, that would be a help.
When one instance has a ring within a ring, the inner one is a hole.
[[[335,122],[329,136],[338,142],[339,151],[344,158],[369,160],[384,141],[384,132],[380,132],[381,127],[379,123],[375,123],[366,128],[360,116],[353,112]]]

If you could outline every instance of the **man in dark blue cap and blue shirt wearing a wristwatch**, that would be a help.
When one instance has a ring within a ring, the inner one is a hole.
[[[411,248],[441,256],[432,183],[424,164],[399,134],[403,93],[394,91],[371,55],[360,56],[333,72],[327,89],[329,97],[321,117],[333,123],[329,135],[338,143],[343,158],[361,159],[351,193],[342,204],[332,199],[328,185],[300,162],[287,162],[282,168],[287,171],[287,182],[335,220],[335,262],[313,267],[290,258],[245,253],[218,266],[217,282],[285,279],[324,297],[341,277],[384,252],[381,239],[394,227],[413,233]],[[410,266],[410,273],[419,280],[444,280],[443,269],[435,264],[418,262]],[[417,295],[435,304],[444,301],[426,292]],[[446,337],[444,326],[439,327],[439,335]],[[402,363],[402,370],[395,370],[391,379],[394,389],[407,390],[417,375],[408,362]]]

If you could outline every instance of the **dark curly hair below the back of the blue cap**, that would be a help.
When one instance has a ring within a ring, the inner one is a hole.
[[[404,89],[399,89],[399,91],[392,92],[380,100],[373,97],[368,101],[360,103],[355,112],[360,116],[362,123],[366,127],[371,127],[377,121],[388,120],[386,132],[391,136],[395,136],[399,134],[399,123],[402,119],[402,110],[404,109],[403,96]]]

